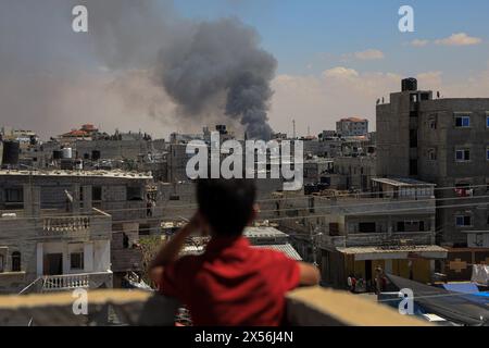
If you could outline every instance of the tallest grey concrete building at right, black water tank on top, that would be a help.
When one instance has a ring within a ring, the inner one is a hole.
[[[489,228],[489,98],[434,99],[417,84],[403,87],[377,105],[377,175],[437,184],[438,241],[466,247]]]

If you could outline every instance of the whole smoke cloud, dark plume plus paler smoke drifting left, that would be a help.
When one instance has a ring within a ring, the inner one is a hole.
[[[88,34],[71,30],[75,4],[88,8]],[[49,135],[159,120],[181,132],[238,124],[268,138],[276,64],[239,20],[190,21],[166,0],[0,2],[2,112]]]

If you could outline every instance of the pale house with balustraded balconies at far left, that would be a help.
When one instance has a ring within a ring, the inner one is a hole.
[[[60,192],[64,207],[51,206],[40,182],[0,172],[0,293],[112,287],[112,216],[74,198],[79,184]]]

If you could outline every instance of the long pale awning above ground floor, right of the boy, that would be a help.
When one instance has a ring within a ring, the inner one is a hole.
[[[354,256],[355,261],[404,260],[404,259],[447,259],[448,250],[439,246],[404,247],[350,247],[337,248],[343,254]]]

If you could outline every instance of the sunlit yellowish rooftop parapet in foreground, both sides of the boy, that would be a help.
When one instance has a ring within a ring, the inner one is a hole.
[[[98,290],[88,294],[88,315],[73,313],[71,293],[0,297],[0,325],[106,325],[108,307],[125,325],[172,326],[178,302],[146,291]],[[287,296],[292,326],[427,326],[414,316],[348,293],[319,287]]]

